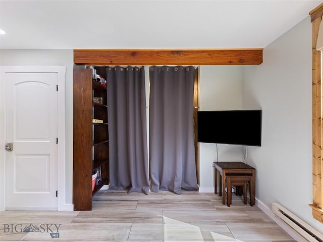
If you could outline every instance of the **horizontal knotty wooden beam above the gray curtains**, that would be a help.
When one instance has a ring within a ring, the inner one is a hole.
[[[76,65],[259,65],[262,49],[74,49]]]

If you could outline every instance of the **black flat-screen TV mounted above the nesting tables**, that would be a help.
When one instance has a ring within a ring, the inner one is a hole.
[[[261,110],[198,111],[198,142],[261,146]]]

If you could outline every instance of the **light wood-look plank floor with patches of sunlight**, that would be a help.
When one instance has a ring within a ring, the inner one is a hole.
[[[0,212],[0,241],[293,241],[257,206],[232,198],[227,207],[212,193],[100,191],[92,211]],[[30,224],[39,232],[20,232]]]

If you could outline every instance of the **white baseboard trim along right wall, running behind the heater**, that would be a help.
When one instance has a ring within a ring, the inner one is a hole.
[[[308,242],[303,236],[297,233],[293,228],[275,216],[274,212],[256,198],[256,205],[271,219],[274,220],[285,232],[287,232],[297,242]]]

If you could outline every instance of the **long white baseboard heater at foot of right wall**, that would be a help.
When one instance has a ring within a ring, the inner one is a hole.
[[[287,223],[306,240],[310,242],[323,242],[323,234],[305,223],[303,220],[284,208],[282,205],[273,203],[273,212],[278,218]]]

